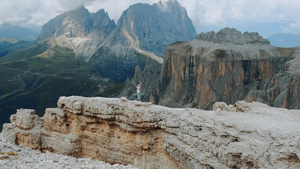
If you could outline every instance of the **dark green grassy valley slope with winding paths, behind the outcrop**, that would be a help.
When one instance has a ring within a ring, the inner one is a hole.
[[[122,85],[101,77],[68,48],[45,49],[46,43],[38,44],[0,59],[0,124],[19,108],[42,116],[59,96],[110,96]]]

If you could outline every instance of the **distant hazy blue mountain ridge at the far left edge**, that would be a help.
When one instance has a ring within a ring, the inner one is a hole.
[[[26,28],[12,26],[9,23],[0,25],[0,39],[12,38],[22,41],[34,41],[38,37],[38,33],[33,32]]]

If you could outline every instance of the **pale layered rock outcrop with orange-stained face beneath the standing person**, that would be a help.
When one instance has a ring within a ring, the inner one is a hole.
[[[60,97],[43,118],[20,109],[16,144],[139,168],[299,168],[300,111],[262,103],[172,109],[126,98]]]

